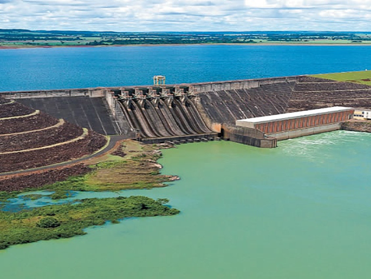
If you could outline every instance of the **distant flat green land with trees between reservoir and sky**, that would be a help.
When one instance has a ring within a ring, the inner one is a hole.
[[[371,44],[371,32],[93,32],[0,29],[0,48],[169,44]]]

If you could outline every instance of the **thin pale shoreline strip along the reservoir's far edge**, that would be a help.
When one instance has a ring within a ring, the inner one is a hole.
[[[190,45],[245,45],[245,46],[371,46],[371,43],[195,43],[195,44],[128,44],[128,45],[0,45],[2,49],[58,48],[58,47],[127,47],[127,46],[190,46]]]

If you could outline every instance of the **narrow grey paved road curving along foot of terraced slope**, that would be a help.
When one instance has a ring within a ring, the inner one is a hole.
[[[55,168],[58,168],[60,166],[66,166],[66,165],[70,165],[70,164],[83,162],[85,160],[95,158],[95,157],[99,157],[99,156],[109,152],[116,145],[117,142],[121,141],[122,139],[127,139],[127,138],[128,137],[125,136],[125,135],[112,135],[112,136],[110,136],[109,144],[104,149],[98,151],[95,154],[91,154],[91,155],[88,155],[88,156],[85,156],[85,157],[82,157],[82,158],[79,158],[79,159],[76,159],[76,160],[68,161],[68,162],[61,162],[61,163],[57,163],[57,164],[53,164],[53,165],[41,166],[40,168],[28,169],[28,170],[19,170],[19,171],[8,172],[8,173],[0,173],[0,177],[7,176],[7,175],[26,174],[26,173],[32,173],[32,172],[35,172],[35,171],[55,169]]]

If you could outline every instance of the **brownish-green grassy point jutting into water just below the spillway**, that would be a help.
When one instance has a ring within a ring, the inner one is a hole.
[[[164,182],[174,176],[161,175],[157,160],[162,153],[158,146],[143,146],[132,141],[119,149],[123,157],[111,156],[109,160],[91,165],[91,173],[70,177],[65,181],[45,185],[43,189],[54,190],[52,199],[65,199],[70,191],[118,191],[166,186]]]

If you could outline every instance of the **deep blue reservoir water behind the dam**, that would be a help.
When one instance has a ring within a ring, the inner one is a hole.
[[[371,69],[371,46],[185,45],[0,50],[0,91],[203,82]]]

